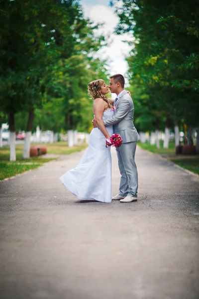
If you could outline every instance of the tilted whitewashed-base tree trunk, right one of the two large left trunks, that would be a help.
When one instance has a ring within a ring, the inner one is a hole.
[[[23,159],[29,159],[30,157],[30,138],[32,134],[32,125],[34,121],[34,108],[29,109],[27,129],[25,134],[24,146],[23,146]]]

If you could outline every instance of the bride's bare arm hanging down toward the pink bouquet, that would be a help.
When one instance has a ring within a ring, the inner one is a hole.
[[[95,114],[96,123],[97,123],[98,128],[100,129],[101,133],[103,134],[103,136],[106,139],[110,139],[110,136],[109,136],[108,132],[106,131],[106,128],[102,121],[102,115],[104,112],[104,108],[105,108],[105,102],[100,98],[95,99],[94,114]]]

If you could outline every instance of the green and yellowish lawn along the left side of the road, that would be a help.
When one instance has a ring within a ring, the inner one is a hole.
[[[88,147],[86,143],[68,147],[67,142],[56,142],[53,144],[32,144],[31,146],[46,146],[47,153],[50,154],[71,154],[76,151],[81,151]],[[23,159],[23,145],[16,145],[16,161],[9,161],[9,146],[4,146],[0,149],[0,180],[14,176],[19,173],[23,173],[29,169],[35,169],[41,166],[43,163],[49,162],[56,158],[45,158],[45,155],[38,157],[30,157],[29,159]],[[29,164],[30,163],[30,164]]]

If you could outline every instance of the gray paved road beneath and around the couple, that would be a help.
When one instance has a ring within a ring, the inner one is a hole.
[[[199,299],[199,178],[138,149],[137,203],[83,201],[81,155],[0,182],[0,298]]]

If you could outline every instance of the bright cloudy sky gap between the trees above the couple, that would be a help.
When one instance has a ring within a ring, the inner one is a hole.
[[[103,32],[111,41],[110,46],[100,50],[102,58],[108,60],[109,73],[120,73],[125,76],[128,69],[125,55],[128,56],[129,46],[122,40],[129,39],[126,34],[116,35],[113,33],[119,18],[114,14],[114,8],[110,7],[109,0],[80,0],[83,5],[85,16],[95,22],[104,22]]]

